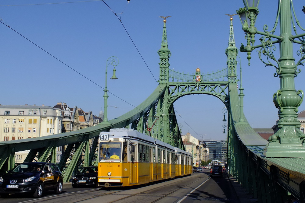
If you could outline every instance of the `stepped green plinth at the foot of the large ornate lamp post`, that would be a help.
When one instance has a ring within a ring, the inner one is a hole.
[[[264,148],[265,157],[305,158],[304,144],[268,143]]]

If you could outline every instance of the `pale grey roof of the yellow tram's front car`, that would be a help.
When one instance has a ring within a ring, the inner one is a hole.
[[[141,139],[141,140],[144,140],[147,142],[156,143],[157,145],[164,146],[173,151],[175,150],[174,147],[170,144],[167,144],[165,142],[162,142],[158,139],[155,139],[153,137],[150,137],[148,135],[145,135],[143,133],[140,133],[140,132],[138,132],[134,129],[130,129],[130,128],[113,128],[113,129],[110,129],[109,135],[138,138],[138,139]]]

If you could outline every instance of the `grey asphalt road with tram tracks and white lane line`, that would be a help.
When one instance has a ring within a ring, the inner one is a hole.
[[[78,187],[63,185],[63,193],[45,191],[42,198],[28,194],[10,194],[0,202],[226,202],[238,203],[237,195],[228,177],[209,177],[209,170],[191,176],[137,187]]]

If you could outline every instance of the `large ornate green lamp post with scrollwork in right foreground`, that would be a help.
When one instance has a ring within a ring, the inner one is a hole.
[[[265,25],[264,32],[258,31],[255,27],[259,0],[243,0],[243,2],[245,8],[240,8],[237,13],[242,22],[242,30],[246,33],[247,45],[246,47],[242,45],[240,51],[247,52],[250,65],[251,52],[259,48],[260,60],[266,66],[275,67],[274,76],[280,78],[280,89],[273,95],[273,102],[278,108],[278,131],[269,137],[269,143],[264,148],[264,156],[305,158],[305,134],[300,131],[300,121],[297,119],[298,107],[303,101],[303,91],[296,91],[294,84],[294,78],[301,72],[297,66],[303,65],[305,59],[305,33],[297,34],[296,26],[294,24],[292,26],[293,17],[300,29],[305,30],[296,19],[290,0],[279,0],[274,27],[268,31],[268,27]],[[278,19],[280,19],[279,35],[275,35]],[[262,37],[259,39],[258,45],[254,45],[254,38],[257,34]],[[293,43],[300,44],[300,49],[296,51],[300,60],[296,63],[293,58]],[[274,55],[275,44],[279,44],[278,59]],[[267,57],[267,61],[263,61],[262,56]]]

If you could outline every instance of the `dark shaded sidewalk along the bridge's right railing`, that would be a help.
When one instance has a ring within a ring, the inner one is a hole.
[[[251,203],[251,202],[257,202],[257,199],[253,198],[253,194],[249,194],[248,192],[246,192],[246,189],[243,188],[237,181],[236,179],[231,176],[231,174],[228,174],[228,178],[230,180],[230,183],[232,185],[232,187],[234,188],[236,195],[240,201],[240,203]]]

